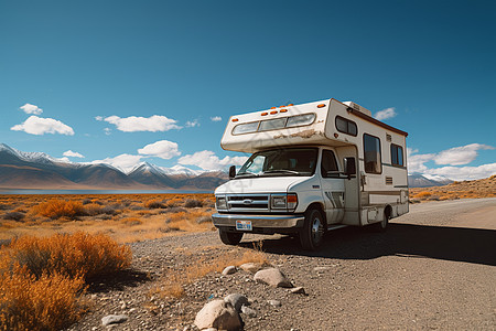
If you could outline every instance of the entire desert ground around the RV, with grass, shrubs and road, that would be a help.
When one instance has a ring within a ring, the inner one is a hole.
[[[0,330],[107,330],[108,314],[128,318],[115,330],[196,330],[203,305],[229,293],[256,311],[245,330],[494,330],[495,183],[411,189],[387,233],[331,232],[315,253],[287,236],[223,245],[212,194],[0,195]],[[304,293],[254,281],[245,263]]]

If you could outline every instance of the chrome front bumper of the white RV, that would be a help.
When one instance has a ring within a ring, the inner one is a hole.
[[[249,214],[214,214],[212,215],[216,227],[236,228],[236,221],[251,221],[254,232],[256,229],[293,229],[303,226],[305,217],[303,215],[249,215]]]

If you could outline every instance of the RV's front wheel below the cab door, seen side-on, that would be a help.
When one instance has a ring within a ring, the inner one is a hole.
[[[300,244],[305,250],[315,250],[324,242],[325,220],[321,211],[316,209],[308,210],[305,221],[300,231]]]

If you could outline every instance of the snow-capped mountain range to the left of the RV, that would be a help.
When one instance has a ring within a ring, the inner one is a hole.
[[[2,189],[213,190],[227,181],[222,171],[142,162],[129,173],[106,163],[74,163],[42,152],[23,152],[0,143]]]

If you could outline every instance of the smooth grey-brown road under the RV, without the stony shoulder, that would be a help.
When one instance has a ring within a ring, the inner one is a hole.
[[[496,199],[410,205],[386,233],[337,229],[316,253],[290,237],[244,245],[260,238],[309,296],[249,330],[496,329]]]

